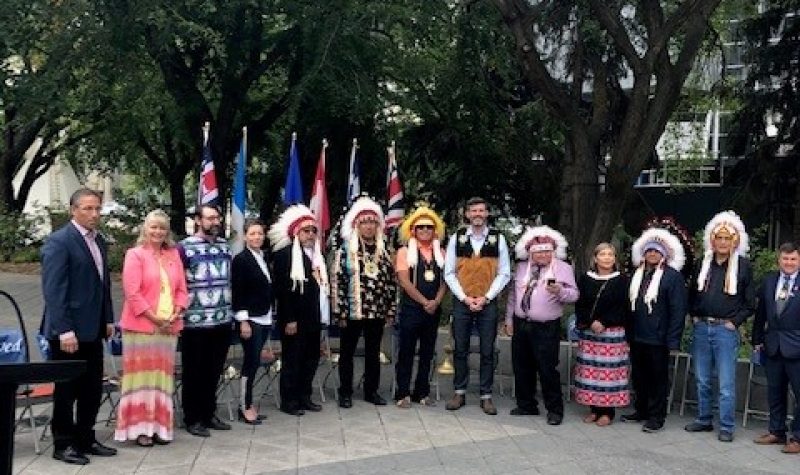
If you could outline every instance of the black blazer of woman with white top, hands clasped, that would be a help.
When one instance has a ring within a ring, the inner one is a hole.
[[[234,312],[247,310],[250,315],[259,316],[274,307],[272,283],[249,249],[236,254],[231,262],[231,294]]]

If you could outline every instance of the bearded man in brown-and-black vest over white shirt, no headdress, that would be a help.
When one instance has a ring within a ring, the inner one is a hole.
[[[483,412],[496,415],[492,402],[494,348],[497,338],[497,296],[511,280],[508,244],[488,226],[489,209],[483,198],[471,198],[464,208],[469,226],[450,237],[445,255],[444,280],[453,293],[453,362],[455,394],[445,406],[449,411],[466,403],[469,383],[469,340],[473,325],[480,337],[480,397]]]

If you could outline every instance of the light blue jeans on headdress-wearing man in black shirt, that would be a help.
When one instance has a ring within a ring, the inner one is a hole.
[[[736,426],[736,357],[739,354],[739,332],[725,325],[709,325],[704,321],[694,324],[692,360],[697,380],[696,422],[710,425],[712,394],[711,378],[716,366],[719,377],[719,427],[720,431],[733,433]]]

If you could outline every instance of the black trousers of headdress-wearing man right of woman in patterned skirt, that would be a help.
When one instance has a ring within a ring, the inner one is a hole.
[[[667,418],[669,394],[669,348],[633,342],[631,370],[636,413],[663,424]]]

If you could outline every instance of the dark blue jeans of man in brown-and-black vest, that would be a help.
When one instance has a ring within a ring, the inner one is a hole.
[[[453,339],[456,345],[453,352],[453,363],[456,370],[453,388],[457,394],[467,392],[469,383],[467,360],[473,322],[478,327],[478,337],[480,338],[480,393],[482,397],[491,397],[494,385],[494,340],[497,337],[496,302],[489,303],[480,312],[471,312],[469,307],[453,299]]]

